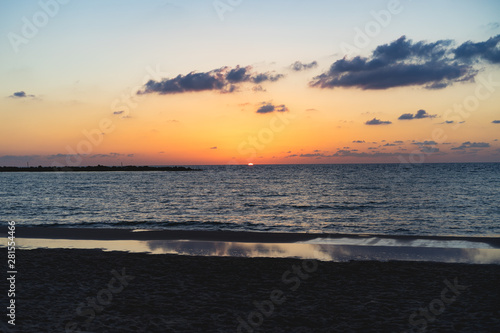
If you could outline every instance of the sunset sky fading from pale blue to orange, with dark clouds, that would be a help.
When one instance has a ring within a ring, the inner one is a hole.
[[[0,166],[500,162],[498,13],[0,0]]]

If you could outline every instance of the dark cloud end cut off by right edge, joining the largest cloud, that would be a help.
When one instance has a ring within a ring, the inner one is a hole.
[[[485,42],[467,41],[455,49],[455,59],[463,61],[486,60],[492,64],[500,63],[500,35],[491,37]]]

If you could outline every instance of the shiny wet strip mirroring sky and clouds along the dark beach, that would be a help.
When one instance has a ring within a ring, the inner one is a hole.
[[[6,240],[0,241],[5,247]],[[405,260],[500,264],[500,249],[360,246],[305,243],[242,243],[185,240],[75,240],[18,238],[18,248],[102,249],[189,256],[272,257],[322,261]]]

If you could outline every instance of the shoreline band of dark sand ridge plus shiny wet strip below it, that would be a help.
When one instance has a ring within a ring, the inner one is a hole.
[[[0,248],[7,234],[0,229]],[[16,227],[16,247],[205,257],[500,265],[500,238]]]

